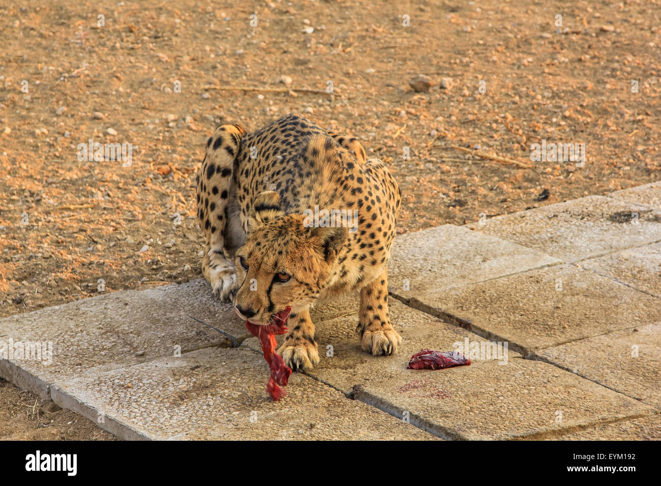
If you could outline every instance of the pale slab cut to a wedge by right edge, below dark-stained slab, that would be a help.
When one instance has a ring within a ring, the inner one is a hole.
[[[580,266],[661,298],[661,243],[584,260]]]

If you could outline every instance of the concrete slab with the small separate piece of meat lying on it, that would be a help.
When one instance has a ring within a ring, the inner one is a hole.
[[[487,356],[485,339],[397,300],[391,299],[389,305],[393,326],[403,339],[399,354],[366,354],[360,349],[354,319],[340,317],[317,325],[321,362],[309,376],[447,439],[553,434],[578,424],[652,413],[651,407],[551,364],[523,360],[512,350],[507,351],[507,360],[494,360],[498,350],[493,353],[489,347]],[[329,344],[332,356],[325,354]],[[504,345],[498,348],[502,358]],[[406,369],[410,356],[422,348],[463,351],[463,347],[469,350],[471,366]],[[555,423],[557,411],[563,412],[561,424]]]

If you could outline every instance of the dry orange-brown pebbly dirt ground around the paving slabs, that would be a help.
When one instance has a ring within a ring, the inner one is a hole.
[[[659,180],[660,16],[644,0],[0,0],[0,317],[199,278],[193,182],[221,121],[295,112],[357,136],[399,181],[401,232]],[[89,140],[132,144],[130,165],[81,161]],[[531,164],[542,140],[584,143],[585,166]],[[35,399],[0,382],[0,438],[109,437]]]

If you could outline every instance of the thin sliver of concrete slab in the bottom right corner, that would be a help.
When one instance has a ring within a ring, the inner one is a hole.
[[[661,415],[576,430],[554,440],[661,440]]]

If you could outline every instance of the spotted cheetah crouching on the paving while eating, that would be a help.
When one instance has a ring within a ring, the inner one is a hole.
[[[352,292],[362,349],[398,352],[387,266],[401,190],[356,138],[294,114],[251,134],[225,124],[206,143],[196,184],[205,278],[254,324],[292,307],[278,348],[290,368],[319,363],[310,309]]]

